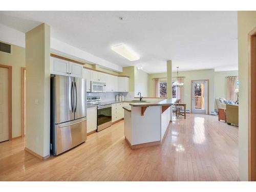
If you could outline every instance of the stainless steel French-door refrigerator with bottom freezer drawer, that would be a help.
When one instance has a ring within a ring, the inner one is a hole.
[[[51,151],[59,155],[87,139],[86,79],[51,76]]]

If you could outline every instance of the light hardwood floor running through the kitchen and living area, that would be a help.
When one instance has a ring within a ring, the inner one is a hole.
[[[0,143],[4,181],[237,181],[238,127],[217,116],[173,119],[164,142],[131,150],[123,121],[57,157],[24,151],[25,139]]]

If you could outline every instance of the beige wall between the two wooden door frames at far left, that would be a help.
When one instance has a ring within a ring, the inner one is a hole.
[[[0,52],[0,64],[12,66],[12,137],[22,135],[21,68],[25,67],[25,48],[12,45],[12,53]]]

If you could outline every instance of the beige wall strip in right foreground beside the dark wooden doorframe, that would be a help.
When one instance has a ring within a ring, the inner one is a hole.
[[[256,27],[256,11],[238,11],[239,179],[248,180],[248,33]]]

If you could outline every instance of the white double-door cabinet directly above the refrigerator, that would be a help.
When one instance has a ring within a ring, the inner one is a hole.
[[[51,57],[51,74],[82,77],[82,65]]]

